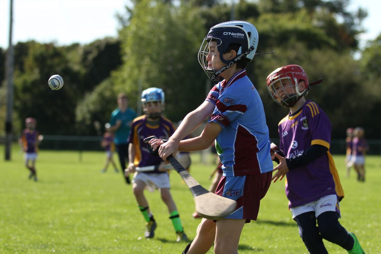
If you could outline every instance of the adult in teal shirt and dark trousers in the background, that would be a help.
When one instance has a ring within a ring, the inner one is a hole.
[[[124,175],[126,168],[125,158],[128,159],[128,136],[131,131],[131,124],[136,117],[136,112],[128,108],[128,97],[125,93],[118,95],[118,108],[111,113],[110,117],[110,131],[115,133],[114,143],[119,156],[120,166],[122,167],[122,174],[126,179],[126,183],[130,184],[130,178]]]

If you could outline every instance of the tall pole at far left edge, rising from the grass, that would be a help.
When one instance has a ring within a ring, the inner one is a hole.
[[[9,46],[6,58],[6,80],[7,80],[7,103],[5,120],[5,160],[11,160],[12,144],[12,110],[13,110],[13,45],[12,45],[12,22],[13,22],[13,0],[10,0],[9,15]]]

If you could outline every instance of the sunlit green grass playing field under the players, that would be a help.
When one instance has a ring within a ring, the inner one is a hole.
[[[16,146],[13,146],[16,149]],[[10,162],[0,146],[0,252],[4,253],[181,253],[172,223],[159,193],[146,196],[158,223],[155,238],[144,238],[144,219],[131,186],[112,167],[100,170],[104,153],[41,151],[38,182],[28,180],[22,155],[14,150]],[[116,155],[115,155],[115,159]],[[381,253],[381,158],[367,156],[365,183],[352,172],[345,177],[344,156],[334,156],[346,198],[341,224],[355,232],[367,253]],[[205,187],[213,165],[204,166],[193,155],[191,174]],[[171,192],[184,229],[193,239],[199,219],[192,218],[191,192],[176,172]],[[330,253],[347,253],[325,241]],[[208,252],[213,253],[213,248]],[[287,209],[284,180],[273,183],[261,203],[258,221],[245,225],[239,253],[307,253],[298,227]]]

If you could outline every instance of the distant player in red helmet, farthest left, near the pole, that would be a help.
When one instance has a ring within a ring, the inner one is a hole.
[[[28,117],[25,119],[26,129],[22,131],[19,144],[24,151],[25,166],[30,170],[29,179],[32,177],[37,181],[36,159],[38,145],[43,140],[43,136],[36,130],[36,119]]]

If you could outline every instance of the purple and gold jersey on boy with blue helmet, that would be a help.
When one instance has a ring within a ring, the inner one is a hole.
[[[147,117],[139,116],[132,122],[130,137],[128,138],[128,143],[133,144],[136,147],[136,156],[134,164],[137,167],[145,166],[155,166],[160,165],[163,160],[159,156],[154,156],[150,154],[147,148],[147,144],[144,143],[144,138],[150,136],[156,136],[158,138],[168,139],[174,133],[174,127],[170,120],[165,117],[160,117],[160,122],[158,125],[152,126],[147,122]],[[149,171],[150,173],[166,173],[159,171]]]

